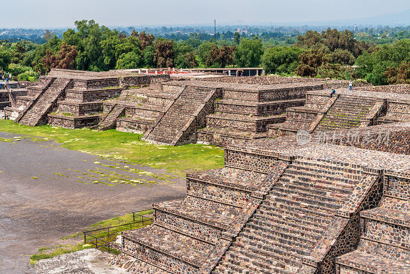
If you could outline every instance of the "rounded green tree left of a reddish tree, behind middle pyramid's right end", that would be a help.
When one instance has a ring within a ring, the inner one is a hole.
[[[299,62],[302,50],[297,47],[274,47],[267,49],[262,56],[265,73],[292,73]]]

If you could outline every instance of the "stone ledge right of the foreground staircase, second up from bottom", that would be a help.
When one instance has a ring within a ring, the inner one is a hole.
[[[410,213],[400,210],[376,207],[361,211],[360,217],[410,228]]]

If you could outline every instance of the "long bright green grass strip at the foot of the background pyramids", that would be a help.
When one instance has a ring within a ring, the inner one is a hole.
[[[61,146],[120,161],[165,168],[183,175],[223,167],[223,149],[211,145],[160,146],[140,141],[142,135],[90,129],[64,129],[49,125],[29,127],[0,120],[0,131],[33,136],[34,141],[55,140]],[[11,139],[12,140],[12,139]],[[0,141],[10,142],[9,139]],[[18,139],[17,139],[18,140]]]

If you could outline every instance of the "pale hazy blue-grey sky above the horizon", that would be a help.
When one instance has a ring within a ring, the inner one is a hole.
[[[0,28],[301,22],[370,17],[410,9],[408,0],[1,0]]]

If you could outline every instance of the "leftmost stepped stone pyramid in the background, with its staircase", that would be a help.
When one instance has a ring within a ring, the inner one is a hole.
[[[105,100],[118,97],[130,86],[149,85],[154,78],[169,76],[52,69],[47,76],[40,76],[38,85],[27,86],[27,95],[16,96],[15,106],[6,112],[14,122],[29,126],[93,126],[100,121]]]

